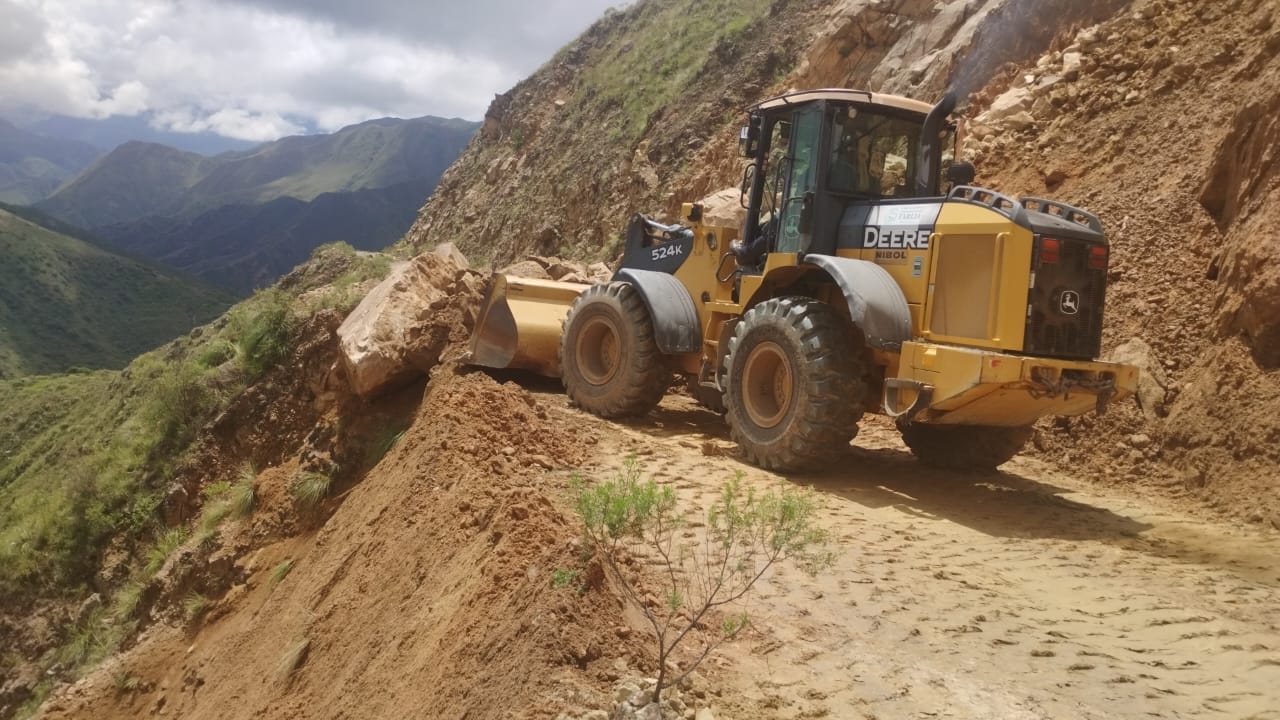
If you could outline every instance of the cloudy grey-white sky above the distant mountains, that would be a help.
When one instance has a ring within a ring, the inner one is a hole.
[[[0,114],[148,113],[265,141],[480,119],[625,0],[0,0]]]

